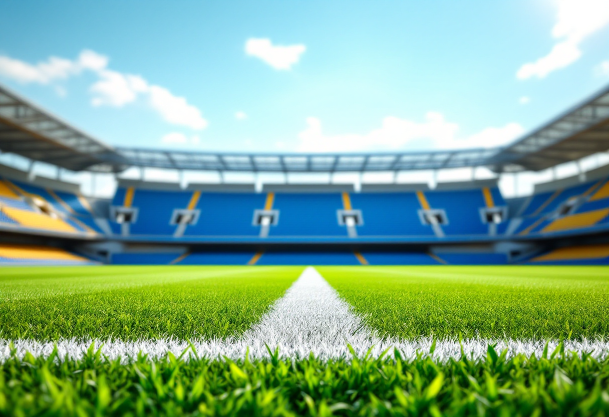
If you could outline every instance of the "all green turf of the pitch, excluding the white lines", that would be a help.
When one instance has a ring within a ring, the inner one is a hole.
[[[607,337],[609,268],[323,267],[382,334],[414,338]],[[239,335],[301,267],[4,268],[0,338]],[[433,344],[432,346],[435,346]],[[609,415],[609,358],[218,358],[0,363],[0,415]],[[431,349],[434,349],[433,347]]]

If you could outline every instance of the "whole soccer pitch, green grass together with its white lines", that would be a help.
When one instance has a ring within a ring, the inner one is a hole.
[[[609,268],[2,273],[4,413],[609,413]]]

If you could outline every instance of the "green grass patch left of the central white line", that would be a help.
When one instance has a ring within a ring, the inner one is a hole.
[[[2,268],[0,337],[227,337],[247,330],[301,267]]]

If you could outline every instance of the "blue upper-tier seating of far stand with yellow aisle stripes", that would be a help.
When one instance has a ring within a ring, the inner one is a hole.
[[[437,240],[451,237],[484,237],[501,234],[500,224],[485,222],[482,211],[505,207],[498,188],[463,191],[410,191],[395,193],[208,193],[119,188],[112,205],[126,207],[133,220],[111,219],[116,235],[165,237],[183,240],[259,238],[256,210],[272,210],[276,218],[262,238],[332,241],[357,239]],[[172,224],[175,210],[197,210],[198,219],[187,226]],[[350,230],[340,210],[359,213]],[[423,210],[440,210],[445,221],[432,227]],[[179,232],[178,232],[179,230]],[[491,233],[491,230],[493,232]]]

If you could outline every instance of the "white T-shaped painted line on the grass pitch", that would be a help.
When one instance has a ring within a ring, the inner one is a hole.
[[[328,360],[330,358],[349,358],[351,353],[348,344],[359,357],[364,357],[370,350],[371,357],[378,357],[385,349],[393,355],[393,348],[398,349],[403,358],[414,358],[417,354],[429,355],[432,338],[417,340],[391,340],[378,337],[368,329],[361,316],[339,298],[336,291],[320,276],[314,268],[306,268],[294,282],[283,298],[273,304],[269,312],[262,316],[259,323],[247,330],[239,338],[222,340],[178,341],[172,339],[117,341],[89,340],[77,341],[64,339],[57,342],[40,342],[35,340],[15,340],[13,349],[16,355],[23,357],[26,352],[34,356],[48,356],[57,346],[60,358],[81,358],[91,343],[101,348],[103,355],[110,359],[136,357],[138,353],[150,358],[163,357],[167,352],[178,356],[190,348],[199,357],[232,359],[244,358],[248,352],[250,358],[270,357],[267,345],[274,351],[279,349],[283,358],[306,358],[309,354]],[[511,357],[516,354],[541,357],[544,341],[535,340],[488,340],[471,339],[459,343],[457,340],[437,341],[431,355],[437,360],[459,358],[461,349],[468,357],[484,358],[489,344],[496,344],[499,353],[508,349]],[[551,341],[548,350],[551,353],[558,341]],[[606,357],[609,353],[609,340],[565,341],[565,351],[592,352],[594,357]],[[0,361],[11,355],[10,341],[0,340]]]

